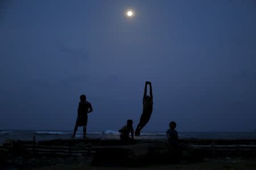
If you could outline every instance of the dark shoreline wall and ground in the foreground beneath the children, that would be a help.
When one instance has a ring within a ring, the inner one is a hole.
[[[179,163],[206,160],[254,160],[256,140],[179,140]],[[83,163],[103,167],[141,167],[172,164],[164,140],[143,139],[122,145],[115,139],[56,139],[49,141],[6,141],[0,146],[0,166],[33,169],[56,164]]]

